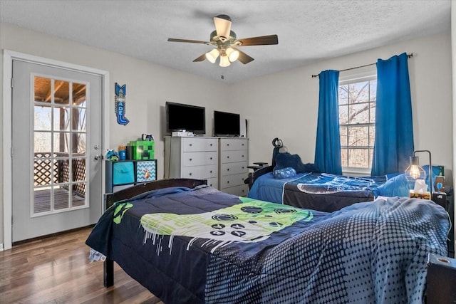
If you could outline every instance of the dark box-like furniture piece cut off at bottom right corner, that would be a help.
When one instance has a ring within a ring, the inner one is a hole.
[[[456,260],[430,253],[427,258],[427,304],[456,303]]]

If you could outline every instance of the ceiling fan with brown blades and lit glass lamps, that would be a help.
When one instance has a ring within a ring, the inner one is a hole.
[[[227,15],[218,15],[214,17],[215,31],[210,35],[209,41],[188,40],[168,38],[172,42],[187,42],[187,43],[204,43],[209,46],[214,46],[212,51],[202,54],[193,62],[204,61],[214,63],[217,57],[220,56],[221,67],[227,67],[234,61],[241,61],[247,64],[254,60],[246,53],[238,49],[239,46],[265,46],[270,44],[278,44],[279,38],[277,35],[259,36],[251,38],[237,39],[236,33],[231,30],[231,18]]]

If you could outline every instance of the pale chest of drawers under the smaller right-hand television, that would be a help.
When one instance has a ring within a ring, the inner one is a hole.
[[[249,140],[244,137],[219,138],[219,190],[237,196],[247,196],[249,185]]]

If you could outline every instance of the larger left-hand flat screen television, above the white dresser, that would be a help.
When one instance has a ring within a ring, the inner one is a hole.
[[[206,108],[183,103],[165,104],[167,132],[187,131],[206,134]]]

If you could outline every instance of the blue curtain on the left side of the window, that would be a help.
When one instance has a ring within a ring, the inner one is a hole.
[[[338,114],[339,71],[323,70],[319,79],[315,164],[321,172],[342,174]]]

